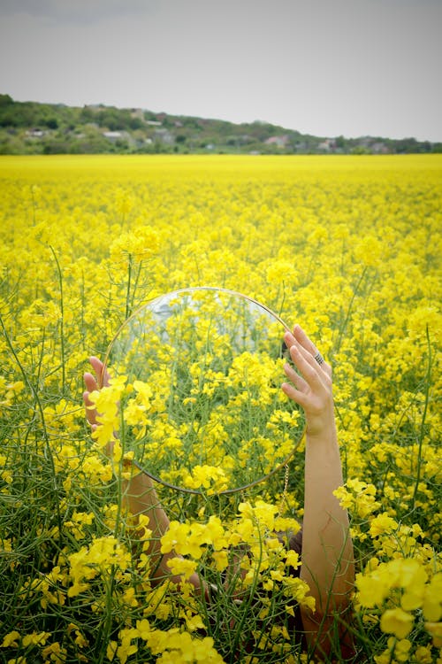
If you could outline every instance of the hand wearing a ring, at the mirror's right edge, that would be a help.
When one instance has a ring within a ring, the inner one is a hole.
[[[286,364],[284,371],[290,383],[284,382],[282,390],[304,409],[309,436],[322,436],[334,429],[331,367],[326,362],[318,364],[316,346],[299,325],[293,328],[293,334],[286,332],[284,341],[300,373]]]

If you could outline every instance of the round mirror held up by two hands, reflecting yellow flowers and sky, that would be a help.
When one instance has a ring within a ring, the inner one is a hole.
[[[124,374],[125,452],[166,486],[243,490],[286,465],[304,416],[280,385],[286,324],[232,290],[176,290],[119,328],[104,366]]]

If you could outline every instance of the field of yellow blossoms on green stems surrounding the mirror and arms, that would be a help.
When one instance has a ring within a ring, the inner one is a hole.
[[[221,496],[159,488],[172,519],[163,550],[184,556],[172,572],[216,583],[208,606],[190,584],[150,583],[120,498],[124,464],[85,421],[88,357],[103,358],[150,298],[211,286],[300,322],[333,366],[338,494],[357,558],[354,662],[440,664],[442,158],[2,157],[0,181],[0,660],[311,661],[290,629],[309,589],[275,535],[302,517],[299,432],[288,479],[282,469]],[[231,398],[243,380],[235,362],[228,375],[194,362],[184,411],[209,376],[206,397]],[[267,384],[278,367],[266,367]],[[275,410],[253,444],[273,459],[297,415],[265,390]],[[223,426],[210,413],[203,422],[213,445],[244,417],[234,395]],[[193,489],[231,481],[192,459],[172,472],[188,423],[177,433],[149,421],[152,386],[121,377],[97,398],[110,436],[117,404],[134,436],[151,427],[167,478]],[[243,465],[257,463],[251,449]],[[235,601],[223,579],[241,546]]]

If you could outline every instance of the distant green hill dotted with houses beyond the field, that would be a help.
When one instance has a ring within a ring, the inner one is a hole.
[[[234,124],[141,108],[16,102],[0,95],[0,154],[442,152],[415,138],[313,136],[255,121]]]

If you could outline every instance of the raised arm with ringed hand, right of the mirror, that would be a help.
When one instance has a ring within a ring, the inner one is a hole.
[[[333,491],[343,483],[331,390],[331,367],[318,364],[317,349],[296,326],[285,342],[297,373],[288,363],[282,389],[301,405],[307,421],[301,579],[315,598],[314,612],[301,607],[309,646],[330,652],[335,614],[349,606],[354,584],[353,544],[347,512]],[[344,651],[345,646],[342,647]]]

